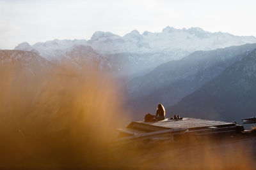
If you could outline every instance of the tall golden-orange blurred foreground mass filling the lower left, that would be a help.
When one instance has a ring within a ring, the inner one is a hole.
[[[31,72],[0,71],[0,169],[104,166],[99,153],[124,113],[110,76],[71,65]]]

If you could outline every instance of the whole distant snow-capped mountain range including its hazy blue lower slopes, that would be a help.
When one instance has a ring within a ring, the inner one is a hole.
[[[15,50],[36,50],[42,57],[58,63],[74,52],[79,45],[90,46],[108,59],[106,65],[118,76],[140,76],[170,60],[179,60],[197,50],[214,50],[232,45],[256,43],[253,36],[234,36],[223,32],[207,32],[199,27],[175,29],[166,27],[162,32],[142,34],[134,30],[118,36],[111,32],[97,31],[92,38],[21,43]],[[105,60],[104,59],[104,60]],[[105,61],[104,61],[105,62]]]

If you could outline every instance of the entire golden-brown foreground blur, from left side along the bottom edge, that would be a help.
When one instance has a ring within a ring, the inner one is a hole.
[[[0,169],[253,169],[241,143],[111,146],[129,122],[115,81],[72,65],[0,69]],[[126,116],[125,116],[126,115]]]

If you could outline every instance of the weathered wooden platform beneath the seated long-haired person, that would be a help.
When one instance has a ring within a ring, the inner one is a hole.
[[[215,134],[234,134],[243,131],[243,126],[234,122],[203,120],[200,118],[183,118],[170,120],[166,118],[158,122],[131,122],[125,129],[117,129],[120,133],[116,141],[131,142],[154,139],[177,134],[193,134],[196,136]]]

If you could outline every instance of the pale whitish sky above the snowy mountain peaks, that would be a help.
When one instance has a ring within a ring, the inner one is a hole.
[[[168,25],[256,36],[256,1],[0,0],[0,49],[24,41],[88,40],[95,31],[161,32]]]

